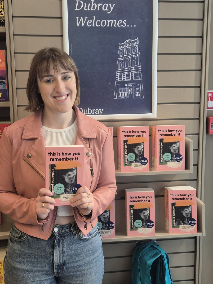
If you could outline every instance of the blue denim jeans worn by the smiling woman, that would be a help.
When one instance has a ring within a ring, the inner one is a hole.
[[[97,224],[88,235],[71,223],[54,226],[45,241],[13,226],[5,256],[5,284],[101,284],[104,259]]]

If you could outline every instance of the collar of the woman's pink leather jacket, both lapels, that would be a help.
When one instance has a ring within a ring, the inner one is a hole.
[[[95,129],[92,121],[93,119],[87,117],[83,112],[81,112],[77,106],[73,106],[78,122],[78,135],[85,138],[96,138]],[[41,114],[42,110],[40,109],[36,114],[29,116],[22,135],[22,139],[32,139],[38,138],[42,133],[42,123],[41,123]]]

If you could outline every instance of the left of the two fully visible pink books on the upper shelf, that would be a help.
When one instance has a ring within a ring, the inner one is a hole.
[[[149,172],[149,126],[117,127],[118,170]]]

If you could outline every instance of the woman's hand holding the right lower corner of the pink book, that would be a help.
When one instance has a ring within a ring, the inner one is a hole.
[[[72,207],[76,206],[83,215],[88,215],[94,207],[93,195],[89,188],[83,185],[77,190],[76,196],[70,199],[70,203]]]

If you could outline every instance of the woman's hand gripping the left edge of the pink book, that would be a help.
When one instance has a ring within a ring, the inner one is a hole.
[[[39,190],[36,198],[36,214],[38,219],[47,218],[49,212],[55,208],[55,199],[50,196],[53,196],[53,193],[49,189],[41,188]]]

